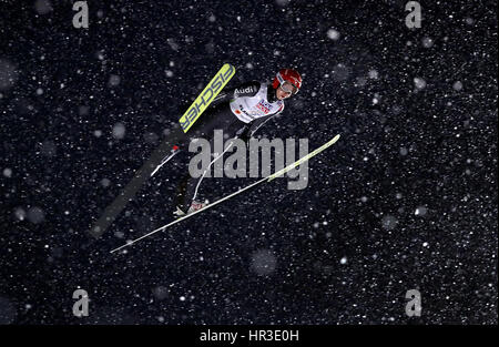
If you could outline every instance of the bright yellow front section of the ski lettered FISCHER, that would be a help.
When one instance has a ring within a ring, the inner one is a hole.
[[[200,115],[213,102],[216,95],[218,95],[234,74],[235,68],[231,64],[224,64],[222,69],[218,70],[215,76],[210,81],[210,83],[180,119],[179,122],[181,123],[184,133],[189,131],[192,124],[194,124]]]

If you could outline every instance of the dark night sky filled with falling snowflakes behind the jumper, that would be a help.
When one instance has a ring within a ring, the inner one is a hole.
[[[497,1],[88,2],[0,2],[0,324],[498,323]],[[225,62],[303,75],[259,135],[340,140],[110,255],[172,220],[180,164],[85,233]]]

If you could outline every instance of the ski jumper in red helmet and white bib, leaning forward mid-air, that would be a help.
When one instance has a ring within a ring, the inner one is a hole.
[[[296,94],[302,88],[302,76],[293,69],[282,69],[273,83],[246,82],[220,94],[213,104],[185,134],[179,146],[187,149],[193,139],[203,137],[211,142],[215,130],[222,130],[224,137],[247,141],[275,115],[284,110],[284,100]],[[216,160],[216,159],[215,159]],[[197,197],[201,178],[187,174],[177,188],[175,215],[195,212],[206,205]]]

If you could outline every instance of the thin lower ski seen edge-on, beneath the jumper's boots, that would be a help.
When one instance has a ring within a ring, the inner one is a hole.
[[[187,220],[187,218],[190,218],[190,217],[196,215],[197,213],[204,212],[204,211],[206,211],[206,210],[208,210],[208,208],[211,208],[211,207],[213,207],[213,206],[215,206],[215,205],[218,205],[220,203],[222,203],[222,202],[224,202],[224,201],[226,201],[226,200],[228,200],[228,198],[231,198],[231,197],[233,197],[233,196],[235,196],[235,195],[238,195],[238,194],[241,194],[241,193],[243,193],[243,192],[245,192],[245,191],[247,191],[247,190],[249,190],[249,188],[252,188],[252,187],[254,187],[254,186],[256,186],[256,185],[258,185],[258,184],[261,184],[261,183],[263,183],[263,182],[265,182],[265,181],[266,181],[266,182],[273,181],[275,177],[285,174],[285,173],[288,172],[289,170],[292,170],[292,169],[298,166],[299,164],[302,164],[302,163],[308,161],[310,157],[317,155],[318,153],[323,152],[323,151],[326,150],[327,147],[332,146],[336,141],[338,141],[338,139],[339,139],[339,134],[336,135],[336,136],[334,136],[332,140],[329,140],[328,142],[326,142],[325,144],[323,144],[320,147],[318,147],[318,149],[316,149],[315,151],[308,153],[307,155],[305,155],[304,157],[302,157],[302,159],[299,159],[298,161],[294,162],[293,164],[289,164],[289,165],[287,165],[286,167],[284,167],[284,169],[282,169],[282,170],[275,172],[274,174],[272,174],[272,175],[269,175],[269,176],[267,176],[267,177],[264,177],[264,178],[262,178],[262,180],[259,180],[259,181],[257,181],[257,182],[255,182],[255,183],[253,183],[253,184],[251,184],[251,185],[248,185],[248,186],[246,186],[246,187],[244,187],[244,188],[242,188],[242,190],[240,190],[240,191],[237,191],[237,192],[234,192],[234,193],[232,193],[232,194],[230,194],[230,195],[227,195],[227,196],[225,196],[225,197],[222,197],[222,198],[215,201],[214,203],[206,205],[205,207],[203,207],[203,208],[201,208],[201,210],[197,210],[197,211],[195,211],[195,212],[193,212],[193,213],[191,213],[191,214],[187,214],[187,215],[185,215],[185,216],[182,216],[182,217],[180,217],[180,218],[177,218],[177,220],[175,220],[175,221],[173,221],[173,222],[171,222],[171,223],[169,223],[169,224],[166,224],[166,225],[163,225],[162,227],[156,228],[156,229],[152,231],[152,232],[149,233],[149,234],[145,234],[145,235],[139,237],[139,238],[135,238],[135,239],[133,239],[133,241],[130,241],[130,242],[128,242],[126,244],[124,244],[124,245],[122,245],[122,246],[120,246],[120,247],[118,247],[118,248],[114,248],[113,251],[111,251],[111,253],[114,253],[114,252],[118,252],[118,251],[120,251],[120,249],[123,249],[124,247],[131,246],[131,245],[138,243],[139,241],[141,241],[141,239],[143,239],[143,238],[145,238],[145,237],[149,237],[149,236],[151,236],[151,235],[153,235],[153,234],[155,234],[155,233],[159,233],[159,232],[161,232],[161,231],[164,231],[164,229],[166,229],[167,227],[170,227],[170,226],[172,226],[172,225],[174,225],[174,224],[176,224],[176,223],[180,223],[180,222],[182,222],[182,221],[184,221],[184,220]]]

